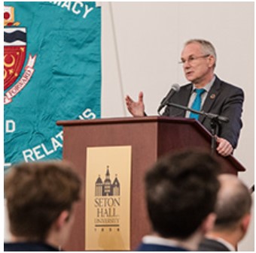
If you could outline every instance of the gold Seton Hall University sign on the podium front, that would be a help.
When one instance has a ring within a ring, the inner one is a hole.
[[[87,148],[85,250],[130,250],[131,150]]]

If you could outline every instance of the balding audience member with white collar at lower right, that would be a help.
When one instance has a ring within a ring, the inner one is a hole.
[[[215,206],[216,221],[200,243],[199,251],[235,251],[250,222],[251,193],[236,176],[221,174]]]

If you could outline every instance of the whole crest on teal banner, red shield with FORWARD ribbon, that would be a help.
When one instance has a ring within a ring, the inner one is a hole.
[[[19,27],[20,23],[14,22],[14,8],[4,8],[4,90],[11,87],[20,77],[26,59],[26,28]],[[36,56],[29,55],[25,66],[25,72],[20,80],[5,93],[4,104],[9,104],[25,86],[29,83],[34,73]]]

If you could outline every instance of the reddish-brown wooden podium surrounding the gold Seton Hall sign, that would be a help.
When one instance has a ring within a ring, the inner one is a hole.
[[[63,159],[75,164],[84,182],[87,147],[132,146],[131,250],[139,245],[142,236],[151,232],[144,197],[144,176],[148,168],[167,152],[194,147],[209,151],[211,149],[211,134],[194,119],[147,116],[59,121],[57,125],[63,126]],[[224,173],[237,174],[239,171],[245,171],[233,155],[227,158],[217,156]],[[75,209],[75,224],[65,249],[85,249],[85,199],[82,199]]]

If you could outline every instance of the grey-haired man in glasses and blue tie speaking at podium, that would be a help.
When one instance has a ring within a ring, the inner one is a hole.
[[[217,152],[223,156],[232,154],[242,128],[241,116],[244,101],[242,89],[225,83],[215,75],[216,53],[209,41],[200,39],[187,41],[181,52],[180,63],[190,83],[178,86],[178,89],[174,87],[166,96],[167,103],[172,102],[193,110],[203,110],[205,113],[227,117],[228,122],[218,123]],[[172,107],[167,103],[163,116],[194,118],[211,131],[211,119]],[[126,107],[133,116],[145,116],[143,93],[139,92],[138,101],[133,101],[127,95]]]

